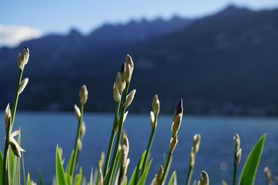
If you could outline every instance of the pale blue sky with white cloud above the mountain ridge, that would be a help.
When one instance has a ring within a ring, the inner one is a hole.
[[[83,34],[104,23],[131,19],[194,19],[234,4],[252,10],[278,8],[278,0],[48,0],[0,1],[0,46],[16,46],[25,39],[49,33],[66,34],[76,28]]]

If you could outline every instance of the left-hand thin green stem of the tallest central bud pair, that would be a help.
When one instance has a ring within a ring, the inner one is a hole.
[[[108,150],[107,150],[107,153],[106,153],[106,161],[105,161],[105,166],[104,166],[104,176],[106,175],[106,172],[108,170],[108,164],[109,164],[110,157],[111,157],[111,150],[112,150],[112,147],[113,147],[115,134],[117,132],[115,130],[115,127],[117,126],[117,116],[119,115],[119,109],[120,109],[120,102],[117,102],[116,103],[116,109],[115,109],[113,128],[111,130],[109,146],[108,146]]]

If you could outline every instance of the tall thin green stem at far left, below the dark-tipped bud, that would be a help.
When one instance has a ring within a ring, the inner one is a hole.
[[[5,141],[5,148],[4,148],[4,156],[3,156],[3,185],[8,184],[8,178],[7,178],[7,172],[8,172],[8,149],[9,149],[9,138],[10,138],[10,133],[13,130],[13,122],[15,121],[15,112],[17,111],[17,102],[18,102],[18,89],[20,82],[22,81],[22,73],[23,70],[19,70],[19,76],[17,78],[17,89],[15,90],[15,98],[13,100],[13,112],[6,130],[6,141]]]

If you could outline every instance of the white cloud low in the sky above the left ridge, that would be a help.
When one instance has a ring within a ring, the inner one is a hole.
[[[42,36],[42,31],[28,26],[0,24],[0,46],[17,46],[24,40]]]

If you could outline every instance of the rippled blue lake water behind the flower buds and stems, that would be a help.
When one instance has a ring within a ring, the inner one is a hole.
[[[1,115],[3,118],[3,115]],[[91,167],[97,166],[101,151],[106,151],[113,124],[113,114],[85,114],[86,134],[83,139],[81,166],[89,177]],[[154,161],[150,168],[148,182],[154,177],[162,163],[163,153],[167,153],[171,137],[172,115],[160,115],[152,147]],[[26,171],[38,181],[38,170],[42,170],[44,182],[50,184],[55,174],[56,144],[63,148],[63,157],[67,160],[74,146],[76,119],[73,113],[19,112],[15,118],[15,127],[22,129],[22,148]],[[0,148],[3,151],[4,124],[1,125]],[[149,133],[149,115],[129,114],[124,123],[129,136],[131,164],[129,173],[138,163],[140,155],[147,146]],[[267,133],[263,157],[255,184],[265,184],[263,168],[270,166],[272,175],[278,175],[278,119],[277,118],[227,118],[211,116],[184,116],[179,130],[179,143],[174,151],[172,168],[177,170],[178,183],[184,184],[188,170],[189,152],[194,134],[201,134],[202,140],[195,161],[193,179],[199,178],[201,170],[206,170],[211,184],[221,184],[222,179],[231,184],[234,160],[235,133],[240,134],[243,157],[239,169],[257,139]],[[67,161],[66,161],[67,162]],[[130,174],[129,174],[130,175]]]

